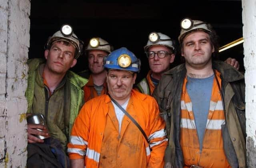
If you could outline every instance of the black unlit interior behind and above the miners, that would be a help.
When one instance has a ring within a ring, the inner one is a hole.
[[[137,82],[149,70],[143,47],[150,32],[162,32],[178,41],[180,21],[189,17],[211,23],[220,36],[220,46],[242,37],[241,0],[170,0],[170,1],[103,1],[103,0],[33,0],[30,13],[29,58],[42,58],[44,44],[62,24],[70,24],[74,33],[88,44],[99,36],[115,49],[126,47],[141,59]],[[239,44],[220,53],[220,60],[232,57],[243,66],[243,46]],[[180,64],[177,54],[174,65]],[[88,69],[86,57],[78,58],[74,72]]]

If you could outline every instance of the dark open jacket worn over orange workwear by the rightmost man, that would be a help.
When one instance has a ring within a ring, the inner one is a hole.
[[[213,68],[221,73],[224,96],[225,121],[222,125],[223,145],[232,168],[246,168],[246,118],[244,101],[244,76],[232,66],[213,61]],[[186,76],[185,64],[164,73],[153,96],[161,116],[166,121],[169,143],[165,154],[165,167],[180,168],[184,158],[180,147],[180,97]]]

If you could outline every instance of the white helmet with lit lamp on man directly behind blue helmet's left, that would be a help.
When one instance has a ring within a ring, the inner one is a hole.
[[[103,50],[109,54],[110,52],[112,52],[113,47],[106,40],[100,37],[94,37],[90,39],[89,44],[85,48],[86,52],[88,52],[89,50]]]

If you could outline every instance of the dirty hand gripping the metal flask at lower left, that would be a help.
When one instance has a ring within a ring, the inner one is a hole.
[[[40,129],[40,130],[37,130]],[[34,135],[49,136],[47,128],[40,124],[28,124],[28,143],[43,143],[44,140],[37,138]]]

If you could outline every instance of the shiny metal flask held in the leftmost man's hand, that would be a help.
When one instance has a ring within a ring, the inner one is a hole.
[[[46,126],[46,120],[45,120],[43,114],[30,114],[27,117],[27,122],[29,124],[40,124],[40,125]],[[46,128],[47,128],[47,126],[46,126]],[[37,130],[42,131],[41,129],[38,129],[38,128],[37,128]],[[45,137],[45,136],[42,136],[42,135],[34,135],[34,136],[38,137],[41,140],[43,140],[45,138],[48,138],[48,137]]]

